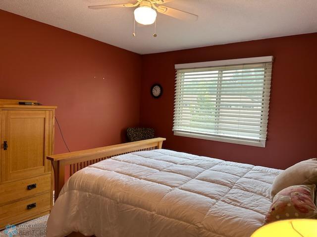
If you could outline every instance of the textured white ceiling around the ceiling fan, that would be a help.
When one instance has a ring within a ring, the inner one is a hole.
[[[317,0],[169,0],[199,15],[196,22],[159,14],[132,37],[133,9],[91,10],[90,4],[134,0],[0,0],[0,9],[140,54],[317,32]]]

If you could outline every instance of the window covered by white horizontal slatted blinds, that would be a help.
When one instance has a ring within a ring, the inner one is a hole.
[[[174,135],[265,147],[272,60],[175,65]]]

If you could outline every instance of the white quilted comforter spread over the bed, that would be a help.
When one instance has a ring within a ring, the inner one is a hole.
[[[71,176],[47,237],[249,237],[279,172],[163,149],[113,157]]]

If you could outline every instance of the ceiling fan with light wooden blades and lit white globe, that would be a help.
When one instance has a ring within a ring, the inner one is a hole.
[[[193,13],[175,9],[169,6],[160,5],[164,3],[166,3],[166,0],[137,0],[136,3],[92,5],[88,6],[88,8],[104,9],[119,7],[137,7],[134,10],[134,19],[136,22],[142,25],[152,25],[153,23],[155,23],[157,12],[180,20],[196,21],[198,19],[198,16]],[[135,33],[133,33],[133,36],[135,36]],[[156,33],[153,36],[156,37]]]

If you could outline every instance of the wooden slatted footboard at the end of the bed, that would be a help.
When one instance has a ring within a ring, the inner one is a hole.
[[[58,194],[65,183],[66,167],[69,168],[69,174],[71,176],[78,170],[107,158],[130,152],[160,149],[162,148],[163,141],[165,140],[165,138],[159,137],[137,142],[128,142],[112,146],[48,156],[47,158],[52,161],[54,169],[55,200],[57,199]]]

